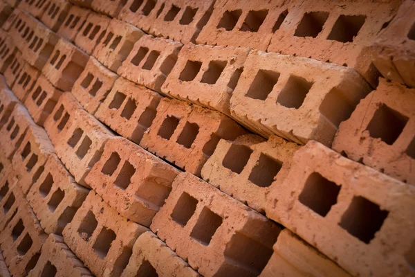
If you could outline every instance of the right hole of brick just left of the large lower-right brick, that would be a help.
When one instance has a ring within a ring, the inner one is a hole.
[[[257,164],[249,175],[249,180],[252,181],[255,185],[266,188],[273,184],[275,176],[277,176],[279,170],[282,168],[282,161],[278,161],[273,157],[261,153]]]

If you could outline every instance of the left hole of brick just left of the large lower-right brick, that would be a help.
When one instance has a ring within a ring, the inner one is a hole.
[[[223,158],[222,165],[232,170],[232,172],[240,174],[248,163],[251,154],[252,150],[248,146],[232,144],[226,152],[225,158]]]

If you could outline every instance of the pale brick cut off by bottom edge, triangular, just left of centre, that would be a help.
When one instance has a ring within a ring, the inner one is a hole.
[[[187,262],[169,249],[152,232],[145,232],[136,240],[133,254],[121,277],[153,273],[154,276],[200,276]]]

